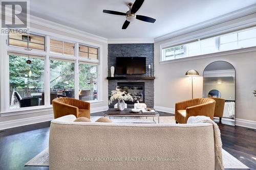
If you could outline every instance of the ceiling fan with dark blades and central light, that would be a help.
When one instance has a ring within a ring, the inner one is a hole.
[[[111,10],[103,10],[103,12],[108,13],[108,14],[126,16],[126,20],[123,23],[122,29],[126,29],[129,26],[130,22],[134,21],[135,19],[139,19],[139,20],[142,20],[145,22],[154,23],[156,21],[156,19],[154,19],[154,18],[135,14],[140,9],[143,2],[144,2],[144,0],[136,0],[134,3],[129,3],[128,4],[129,11],[127,11],[126,13],[118,12],[118,11],[111,11]]]

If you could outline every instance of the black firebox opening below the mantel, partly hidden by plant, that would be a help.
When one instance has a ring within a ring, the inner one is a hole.
[[[117,85],[127,93],[130,93],[134,99],[134,102],[132,101],[125,101],[127,104],[133,104],[137,103],[139,101],[140,103],[145,102],[145,83],[144,82],[118,82]]]

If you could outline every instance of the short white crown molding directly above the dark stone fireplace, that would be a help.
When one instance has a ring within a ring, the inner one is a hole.
[[[108,44],[154,43],[154,38],[117,38],[108,39]]]

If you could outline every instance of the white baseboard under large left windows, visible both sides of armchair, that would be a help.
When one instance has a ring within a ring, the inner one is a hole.
[[[109,106],[95,107],[95,108],[91,108],[91,113],[106,111],[108,109],[109,109]],[[50,111],[52,111],[52,109]],[[8,120],[5,122],[0,122],[0,130],[32,125],[32,124],[37,124],[41,122],[48,122],[48,121],[51,121],[52,119],[54,119],[53,113],[47,114],[47,115],[41,115],[41,116]]]

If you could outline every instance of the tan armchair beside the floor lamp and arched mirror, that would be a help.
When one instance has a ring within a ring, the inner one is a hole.
[[[209,98],[197,98],[175,104],[176,123],[186,124],[190,116],[208,116],[214,118],[215,100]]]

